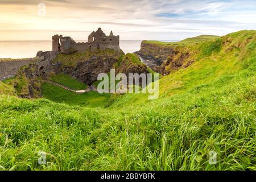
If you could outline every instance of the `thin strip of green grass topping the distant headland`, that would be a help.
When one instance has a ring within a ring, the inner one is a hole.
[[[219,36],[214,36],[214,35],[200,35],[196,36],[194,38],[187,38],[184,40],[181,40],[179,42],[160,42],[156,40],[147,40],[146,43],[152,43],[152,44],[159,44],[159,45],[170,45],[170,46],[188,46],[191,44],[199,44],[201,42],[209,41],[209,40],[215,40],[220,38]]]

